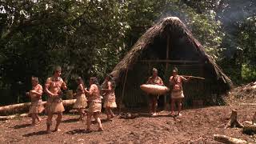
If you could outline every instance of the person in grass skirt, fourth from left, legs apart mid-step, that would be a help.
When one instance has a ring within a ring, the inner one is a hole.
[[[98,79],[95,77],[90,78],[90,89],[85,90],[86,95],[88,95],[89,110],[87,113],[87,129],[86,132],[90,132],[90,122],[91,117],[94,116],[95,120],[98,122],[98,131],[103,131],[102,122],[99,118],[102,110],[102,99],[101,90],[98,85]]]

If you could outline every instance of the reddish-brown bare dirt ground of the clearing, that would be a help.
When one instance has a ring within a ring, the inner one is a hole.
[[[106,122],[102,114],[104,131],[98,132],[94,123],[92,132],[85,132],[86,124],[78,121],[78,115],[65,114],[60,129],[46,134],[46,116],[38,126],[30,126],[30,118],[0,122],[0,143],[218,143],[214,134],[226,134],[256,142],[256,136],[242,134],[241,129],[224,129],[230,112],[238,110],[238,120],[244,122],[253,118],[256,106],[212,106],[183,110],[181,117],[170,117],[162,111],[150,118],[141,113],[138,118],[114,118]],[[54,129],[54,127],[52,127]]]

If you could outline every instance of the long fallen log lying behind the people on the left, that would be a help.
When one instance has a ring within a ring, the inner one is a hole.
[[[71,106],[74,104],[75,99],[63,100],[62,102],[64,106]],[[42,102],[42,104],[46,106],[46,102]],[[8,114],[17,114],[22,112],[24,113],[29,111],[30,105],[31,105],[31,102],[19,103],[19,104],[14,104],[10,106],[0,106],[0,114],[8,115]]]

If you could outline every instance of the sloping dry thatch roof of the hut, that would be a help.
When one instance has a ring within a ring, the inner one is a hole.
[[[177,17],[165,18],[162,20],[162,22],[158,22],[158,24],[152,26],[149,30],[147,30],[146,33],[138,39],[138,42],[134,44],[134,46],[126,54],[122,61],[114,67],[114,70],[111,72],[111,74],[114,75],[114,79],[118,80],[124,74],[126,74],[126,69],[130,70],[134,66],[134,64],[138,62],[139,56],[145,50],[147,50],[150,45],[152,45],[154,39],[159,37],[159,35],[181,34],[180,31],[182,31],[183,36],[186,36],[188,42],[190,42],[190,45],[194,47],[194,50],[196,50],[200,57],[204,59],[204,62],[209,63],[210,66],[213,67],[212,70],[214,70],[216,78],[227,84],[228,86],[231,86],[232,82],[230,78],[228,78],[226,74],[222,72],[222,70],[214,62],[213,58],[206,54],[200,42],[198,42],[198,40],[193,37],[190,30],[188,30],[185,24]]]

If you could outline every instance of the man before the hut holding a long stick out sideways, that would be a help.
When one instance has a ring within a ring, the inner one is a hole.
[[[178,115],[181,116],[180,113],[182,110],[182,99],[184,98],[183,89],[182,89],[182,82],[187,82],[190,80],[189,78],[184,78],[180,75],[178,75],[178,69],[174,67],[173,75],[170,77],[169,82],[170,86],[172,88],[171,91],[171,115],[174,115],[174,105],[176,102],[178,102]]]

